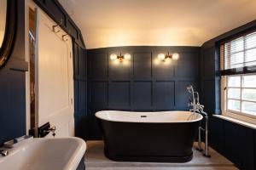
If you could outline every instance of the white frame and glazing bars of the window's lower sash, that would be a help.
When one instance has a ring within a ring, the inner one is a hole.
[[[240,120],[240,121],[249,122],[249,123],[253,123],[253,124],[256,125],[256,115],[253,116],[251,114],[241,112],[241,108],[240,108],[240,111],[232,111],[232,110],[228,109],[228,88],[229,88],[227,86],[228,77],[237,77],[237,76],[242,77],[242,76],[249,76],[249,75],[256,75],[256,74],[255,73],[252,73],[252,74],[238,74],[238,75],[227,75],[227,76],[222,76],[221,77],[221,109],[222,109],[222,115],[223,116],[228,116],[228,117]],[[232,88],[232,87],[230,87],[230,88]],[[242,90],[242,78],[241,78],[241,85],[240,85],[239,88],[240,88],[240,90]],[[256,89],[256,88],[253,88],[253,89]],[[240,95],[242,95],[242,94],[240,94]],[[236,99],[236,100],[240,100],[240,102],[241,101],[247,101],[247,100],[243,100],[241,98]],[[256,103],[254,101],[249,101],[249,102]]]

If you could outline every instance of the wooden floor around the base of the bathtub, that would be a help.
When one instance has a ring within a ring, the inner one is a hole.
[[[152,162],[123,162],[110,161],[103,154],[102,141],[87,141],[85,153],[86,170],[233,170],[237,169],[228,161],[210,149],[211,158],[202,156],[194,150],[194,158],[186,163],[152,163]],[[196,145],[196,144],[195,144]]]

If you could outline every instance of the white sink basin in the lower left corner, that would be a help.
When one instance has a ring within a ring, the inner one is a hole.
[[[86,144],[79,138],[26,139],[0,156],[0,169],[77,169],[84,159]]]

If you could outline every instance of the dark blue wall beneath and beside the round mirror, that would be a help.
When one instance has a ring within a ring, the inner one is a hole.
[[[17,2],[19,29],[16,29],[15,47],[6,67],[0,70],[0,145],[26,133],[25,3]]]

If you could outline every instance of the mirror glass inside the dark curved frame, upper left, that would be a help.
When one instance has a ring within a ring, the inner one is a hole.
[[[2,47],[3,37],[6,26],[7,0],[0,0],[0,48]]]

